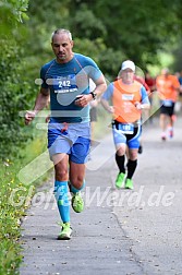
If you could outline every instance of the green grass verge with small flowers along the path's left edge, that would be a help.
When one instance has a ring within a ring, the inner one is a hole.
[[[21,255],[21,224],[26,215],[29,198],[29,184],[20,181],[17,175],[21,168],[32,162],[46,147],[46,135],[39,133],[35,141],[27,143],[20,152],[20,158],[0,162],[0,274],[16,275],[22,262]],[[32,195],[36,187],[46,180],[48,175],[39,178],[32,184]]]

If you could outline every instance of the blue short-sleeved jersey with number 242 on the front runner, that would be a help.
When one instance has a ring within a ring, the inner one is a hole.
[[[93,59],[80,53],[68,63],[51,60],[40,70],[41,87],[50,89],[51,118],[56,122],[88,122],[89,105],[75,105],[76,96],[89,94],[89,79],[94,82],[101,71]]]

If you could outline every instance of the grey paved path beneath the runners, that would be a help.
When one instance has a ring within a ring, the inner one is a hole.
[[[58,241],[52,180],[23,223],[21,275],[182,274],[182,120],[173,140],[161,142],[158,123],[143,131],[134,191],[116,190],[112,138],[87,165],[85,211],[71,212],[73,238]]]

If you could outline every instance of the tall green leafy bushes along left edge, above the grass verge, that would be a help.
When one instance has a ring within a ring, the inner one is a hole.
[[[0,158],[17,155],[17,146],[26,141],[27,133],[22,131],[23,119],[19,112],[28,106],[31,85],[25,76],[24,51],[21,48],[26,17],[27,0],[1,1],[0,9]],[[1,14],[2,13],[2,14]],[[1,16],[2,15],[2,16]],[[22,32],[22,36],[21,36]],[[26,93],[25,93],[26,91]]]

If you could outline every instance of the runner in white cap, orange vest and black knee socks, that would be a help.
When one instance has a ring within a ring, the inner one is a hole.
[[[116,187],[133,189],[142,130],[142,110],[150,107],[145,87],[134,80],[135,64],[122,62],[121,77],[110,83],[101,96],[104,108],[112,113],[112,134],[119,174]],[[126,156],[126,157],[125,157]],[[126,160],[126,166],[125,166]]]

